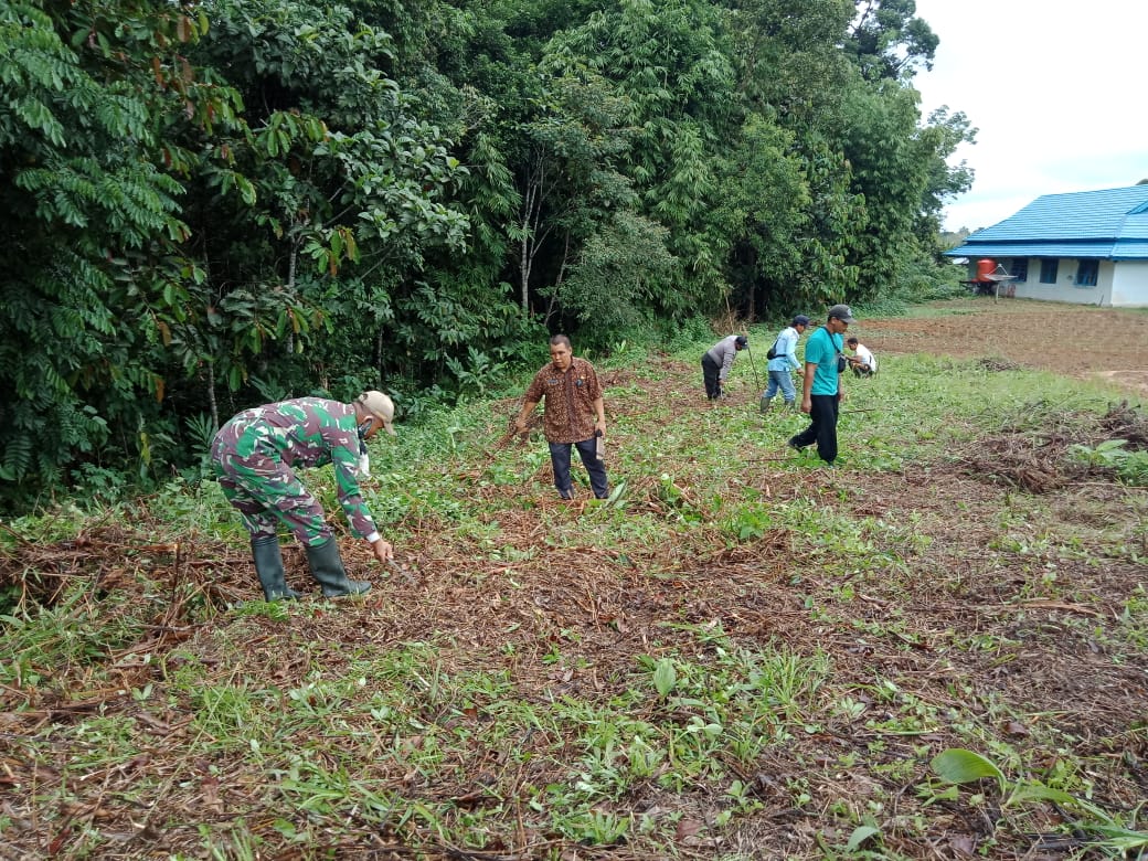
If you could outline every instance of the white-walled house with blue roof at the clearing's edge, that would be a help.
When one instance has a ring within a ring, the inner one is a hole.
[[[1148,185],[1046,194],[945,253],[977,273],[1006,272],[1025,298],[1148,307]]]

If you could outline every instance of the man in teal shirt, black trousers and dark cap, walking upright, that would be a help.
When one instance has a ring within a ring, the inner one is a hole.
[[[809,413],[810,421],[809,427],[789,441],[798,450],[817,443],[817,457],[830,465],[837,458],[837,411],[845,397],[841,388],[845,363],[839,360],[845,346],[841,339],[851,323],[850,307],[833,305],[825,325],[809,336],[805,346],[801,412]]]

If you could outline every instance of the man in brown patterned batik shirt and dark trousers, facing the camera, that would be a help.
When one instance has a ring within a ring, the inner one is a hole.
[[[590,473],[594,495],[608,495],[606,467],[598,457],[598,439],[606,435],[606,411],[602,401],[598,374],[585,359],[574,358],[566,335],[550,339],[550,364],[535,375],[523,396],[522,410],[514,421],[520,433],[538,402],[545,400],[542,429],[550,443],[550,463],[554,467],[554,487],[564,499],[574,498],[571,483],[571,445]]]

